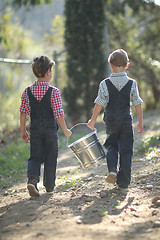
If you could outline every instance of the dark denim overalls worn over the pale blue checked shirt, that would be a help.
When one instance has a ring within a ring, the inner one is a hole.
[[[131,161],[133,155],[133,127],[130,111],[130,92],[132,80],[120,90],[106,79],[109,92],[109,103],[105,108],[104,121],[106,124],[107,139],[104,146],[107,148],[107,165],[109,172],[117,173],[117,184],[126,188],[131,181]]]

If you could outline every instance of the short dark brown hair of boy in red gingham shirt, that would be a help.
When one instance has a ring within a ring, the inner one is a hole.
[[[51,70],[54,64],[55,62],[47,56],[35,57],[32,63],[32,70],[37,78],[44,77],[48,69]]]

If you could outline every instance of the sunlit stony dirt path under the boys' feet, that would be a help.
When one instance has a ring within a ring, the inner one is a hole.
[[[157,112],[148,115],[143,134],[135,133],[135,145],[159,134],[159,125]],[[125,192],[105,182],[105,161],[83,169],[64,147],[53,193],[45,192],[42,180],[39,198],[29,197],[26,181],[0,193],[0,239],[159,240],[159,159],[160,148],[147,156],[134,150],[132,181]]]

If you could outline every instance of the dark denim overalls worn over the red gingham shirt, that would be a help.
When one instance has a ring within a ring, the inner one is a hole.
[[[27,176],[39,182],[41,163],[44,163],[43,185],[47,188],[55,186],[58,156],[57,122],[51,108],[51,92],[49,87],[41,101],[38,101],[27,88],[30,107],[30,159]]]

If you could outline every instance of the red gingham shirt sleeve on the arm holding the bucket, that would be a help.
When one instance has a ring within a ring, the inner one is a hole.
[[[53,109],[53,114],[55,118],[59,118],[64,115],[61,93],[57,88],[54,88],[51,94],[51,107]]]

